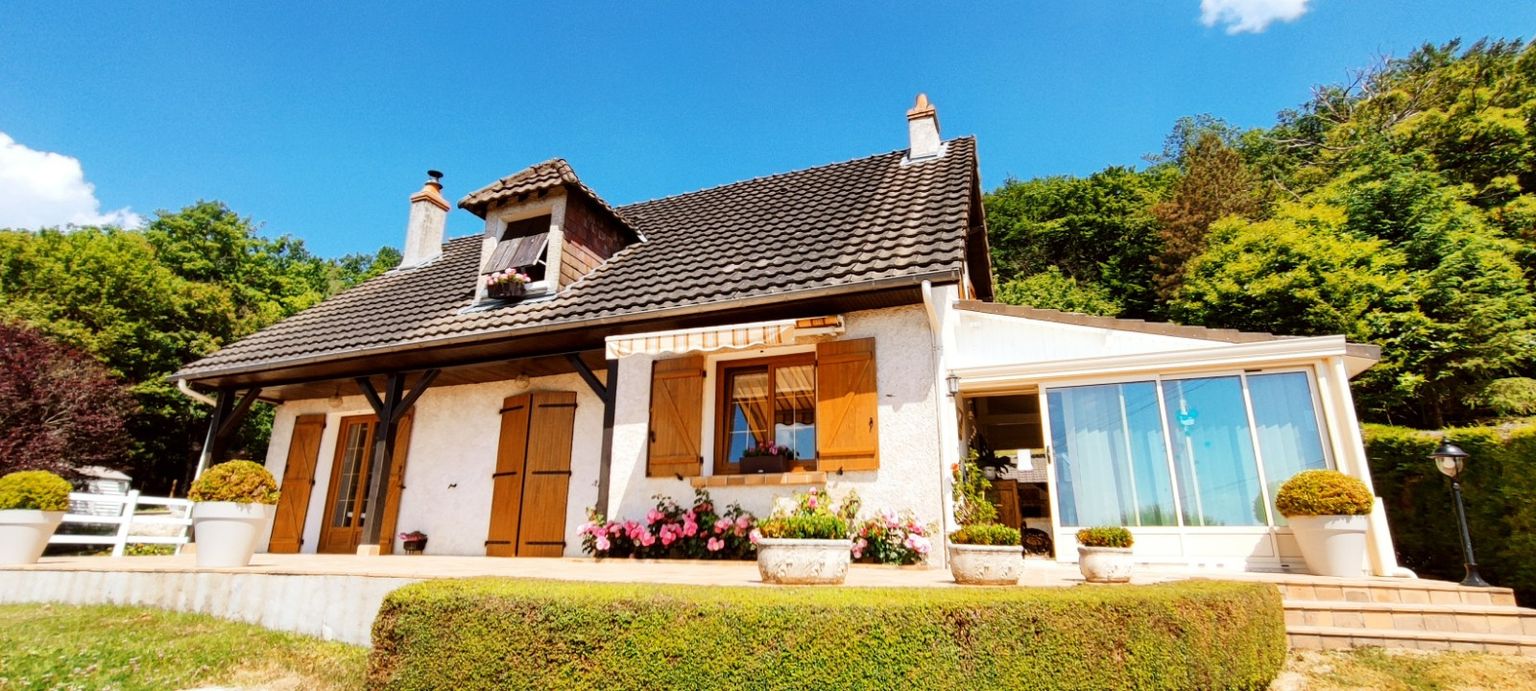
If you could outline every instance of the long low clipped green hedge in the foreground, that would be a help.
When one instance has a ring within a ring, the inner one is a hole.
[[[369,686],[1263,689],[1272,585],[753,588],[429,580],[386,597]]]

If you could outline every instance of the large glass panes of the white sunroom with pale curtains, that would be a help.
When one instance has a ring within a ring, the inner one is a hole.
[[[1304,372],[1046,392],[1061,525],[1284,525],[1266,504],[1326,468]]]

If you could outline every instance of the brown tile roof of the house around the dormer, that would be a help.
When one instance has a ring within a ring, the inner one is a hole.
[[[977,181],[975,140],[951,140],[935,160],[903,158],[897,150],[621,207],[647,240],[542,301],[468,310],[481,238],[456,238],[425,266],[370,279],[174,376],[204,379],[404,346],[498,339],[680,307],[728,309],[882,279],[958,279]],[[481,193],[564,180],[564,170],[556,164],[536,183],[487,187],[461,206]]]

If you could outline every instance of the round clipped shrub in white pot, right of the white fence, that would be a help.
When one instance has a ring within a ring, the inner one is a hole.
[[[260,464],[230,461],[203,471],[187,498],[194,502],[197,565],[244,567],[276,513],[278,482]]]

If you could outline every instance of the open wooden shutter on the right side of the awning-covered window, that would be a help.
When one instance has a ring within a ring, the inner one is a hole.
[[[880,467],[874,339],[816,346],[816,453],[820,470]]]

